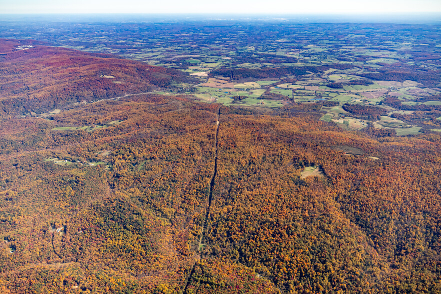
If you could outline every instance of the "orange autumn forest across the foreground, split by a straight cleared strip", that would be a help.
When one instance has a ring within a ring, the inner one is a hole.
[[[439,134],[346,131],[320,109],[139,94],[4,115],[1,291],[441,291]]]

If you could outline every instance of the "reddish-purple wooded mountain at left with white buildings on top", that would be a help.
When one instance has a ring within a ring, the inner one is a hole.
[[[44,112],[72,102],[149,92],[189,81],[182,71],[115,55],[0,39],[0,112]]]

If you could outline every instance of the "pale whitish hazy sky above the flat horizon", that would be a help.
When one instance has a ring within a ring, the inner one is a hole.
[[[0,0],[0,13],[440,12],[441,0]]]

